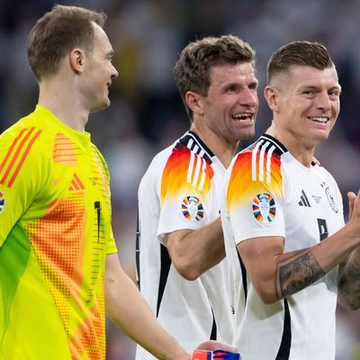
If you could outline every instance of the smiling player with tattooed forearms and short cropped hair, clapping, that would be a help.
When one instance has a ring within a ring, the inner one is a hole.
[[[359,196],[344,226],[337,183],[312,163],[338,118],[338,74],[324,46],[295,41],[267,77],[273,124],[234,158],[221,205],[235,345],[247,360],[330,360],[337,301],[360,306]]]

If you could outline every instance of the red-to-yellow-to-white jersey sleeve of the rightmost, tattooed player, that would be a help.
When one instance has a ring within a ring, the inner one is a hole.
[[[285,236],[284,184],[276,154],[238,154],[226,188],[229,220],[236,244],[248,238]]]

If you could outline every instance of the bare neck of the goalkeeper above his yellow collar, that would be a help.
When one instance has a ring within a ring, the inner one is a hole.
[[[80,105],[78,96],[72,89],[67,89],[68,86],[56,81],[41,82],[39,104],[49,109],[69,128],[83,132],[89,113]]]

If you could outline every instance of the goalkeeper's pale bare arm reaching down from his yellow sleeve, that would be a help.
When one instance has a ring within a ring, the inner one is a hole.
[[[106,257],[105,307],[112,321],[158,359],[189,360],[190,356],[157,322],[116,254]]]

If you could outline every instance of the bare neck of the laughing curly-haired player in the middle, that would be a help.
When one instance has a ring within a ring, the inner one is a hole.
[[[202,139],[225,168],[229,167],[235,151],[238,148],[238,141],[226,141],[208,128],[196,126],[194,123],[192,123],[190,130]]]

